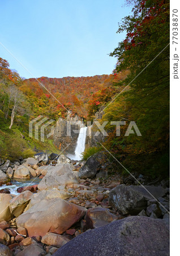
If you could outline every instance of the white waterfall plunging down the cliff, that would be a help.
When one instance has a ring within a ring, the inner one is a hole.
[[[81,160],[82,159],[82,153],[85,150],[85,139],[87,135],[87,127],[81,127],[78,135],[78,141],[76,143],[76,148],[75,148],[75,154],[71,155],[68,154],[68,158],[72,160]]]

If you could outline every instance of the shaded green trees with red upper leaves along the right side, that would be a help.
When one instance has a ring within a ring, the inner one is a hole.
[[[123,91],[106,105],[102,121],[126,121],[121,136],[114,126],[105,147],[130,171],[152,176],[169,175],[169,1],[136,1],[134,14],[119,24],[127,31],[110,56],[117,57],[114,75],[128,69],[117,84]],[[141,137],[125,137],[135,121]],[[110,122],[109,122],[110,124]],[[122,168],[121,168],[122,169]]]

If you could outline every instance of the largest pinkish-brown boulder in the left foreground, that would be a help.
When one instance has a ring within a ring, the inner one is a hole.
[[[47,232],[62,234],[78,222],[85,211],[60,198],[42,199],[16,218],[16,224],[26,228],[29,237],[45,236]]]

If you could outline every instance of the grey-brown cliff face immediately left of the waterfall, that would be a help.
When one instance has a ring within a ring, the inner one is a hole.
[[[67,122],[71,122],[71,135],[67,134]],[[75,133],[73,130],[80,130],[81,125],[83,125],[83,121],[82,118],[78,117],[78,115],[70,117],[70,115],[68,114],[66,119],[59,118],[54,129],[55,146],[63,150],[68,146],[69,143],[71,143],[71,146],[67,148],[67,152],[69,152],[70,154],[74,154],[76,142],[78,139],[78,133]]]

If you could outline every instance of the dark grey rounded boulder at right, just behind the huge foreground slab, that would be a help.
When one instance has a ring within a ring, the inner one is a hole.
[[[121,214],[136,215],[147,208],[147,201],[153,199],[151,195],[155,198],[165,195],[165,189],[162,187],[144,187],[118,185],[109,192],[109,205]]]

